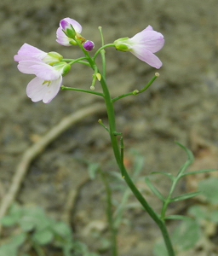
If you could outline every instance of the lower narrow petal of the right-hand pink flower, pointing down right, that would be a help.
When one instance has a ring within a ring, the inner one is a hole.
[[[158,59],[158,57],[152,54],[151,51],[143,47],[139,47],[137,45],[131,50],[131,53],[135,55],[137,58],[139,58],[141,61],[145,61],[148,65],[152,67],[155,67],[155,68],[162,67],[162,62]]]

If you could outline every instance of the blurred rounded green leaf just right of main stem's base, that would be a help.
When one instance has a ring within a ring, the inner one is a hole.
[[[186,219],[175,230],[172,240],[179,251],[186,251],[196,245],[201,237],[200,225],[196,220]]]

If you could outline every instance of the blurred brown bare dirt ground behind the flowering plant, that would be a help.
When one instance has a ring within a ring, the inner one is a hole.
[[[124,134],[129,166],[134,159],[131,150],[135,149],[145,157],[142,177],[150,172],[175,173],[186,160],[175,140],[192,149],[197,160],[201,148],[218,147],[216,0],[2,0],[0,8],[2,198],[22,153],[37,137],[42,137],[67,114],[100,102],[96,96],[72,91],[60,91],[49,104],[33,103],[26,96],[31,76],[19,73],[13,59],[22,44],[57,51],[69,58],[81,56],[77,48],[61,47],[55,42],[55,31],[65,17],[83,26],[83,36],[94,41],[96,49],[100,47],[98,26],[102,26],[106,43],[130,38],[147,25],[164,34],[164,49],[158,53],[164,63],[160,77],[146,93],[116,103],[118,130]],[[106,58],[107,80],[113,96],[141,89],[156,72],[129,53],[107,49]],[[87,67],[73,66],[64,84],[88,90],[91,76]],[[100,90],[99,85],[96,90]],[[105,172],[118,171],[108,134],[98,119],[107,124],[106,113],[90,116],[51,143],[32,162],[16,197],[21,205],[35,204],[61,219],[67,196],[72,189],[77,190],[70,221],[77,239],[85,241],[92,251],[101,246],[99,238],[92,235],[92,225],[100,234],[107,234],[105,195],[100,177],[89,180],[83,160],[100,163]],[[209,168],[217,168],[217,160],[214,163]],[[168,181],[159,178],[156,182],[167,193]],[[147,191],[143,178],[138,185]],[[121,194],[117,196],[120,199]],[[153,195],[148,194],[148,198],[153,207],[160,209]],[[130,201],[135,203],[133,198]],[[121,256],[152,255],[160,233],[146,217],[138,205],[125,213],[128,221],[122,224],[118,236]],[[169,224],[169,230],[173,225]]]

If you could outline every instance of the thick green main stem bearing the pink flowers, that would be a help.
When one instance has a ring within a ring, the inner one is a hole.
[[[132,190],[133,194],[137,198],[138,201],[140,201],[142,207],[145,208],[146,212],[150,215],[150,217],[158,224],[159,229],[162,232],[162,235],[164,237],[165,245],[167,247],[169,256],[175,256],[174,249],[172,247],[172,243],[169,238],[169,233],[168,230],[166,229],[166,225],[164,223],[164,220],[158,217],[158,214],[153,211],[152,207],[147,203],[146,199],[141,195],[140,191],[135,187],[135,184],[132,182],[131,178],[129,177],[128,172],[125,169],[125,166],[123,166],[123,160],[121,158],[120,154],[120,147],[118,145],[118,139],[116,136],[116,119],[115,119],[115,112],[114,112],[114,107],[113,107],[113,102],[112,102],[112,97],[110,95],[110,92],[106,86],[106,81],[102,77],[100,80],[100,84],[102,86],[105,102],[106,102],[106,110],[107,110],[107,116],[108,116],[108,121],[109,121],[109,127],[110,127],[110,137],[112,141],[112,148],[113,148],[113,153],[115,156],[115,159],[118,163],[120,171],[124,175],[124,180],[128,184],[129,189]]]

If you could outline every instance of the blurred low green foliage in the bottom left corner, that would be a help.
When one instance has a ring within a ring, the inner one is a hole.
[[[20,235],[10,237],[9,242],[0,247],[0,256],[17,256],[20,247],[26,243],[30,243],[39,256],[46,245],[61,248],[64,256],[80,256],[81,253],[96,256],[89,253],[88,247],[83,243],[73,239],[72,230],[67,224],[49,218],[40,207],[14,205],[1,223],[4,227],[19,227]]]

